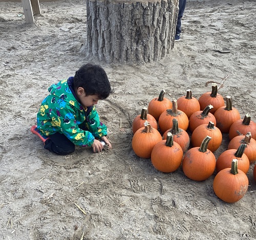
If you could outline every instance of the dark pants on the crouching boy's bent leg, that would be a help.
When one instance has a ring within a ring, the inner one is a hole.
[[[45,142],[45,149],[58,155],[68,155],[75,151],[75,145],[64,134],[54,133]]]

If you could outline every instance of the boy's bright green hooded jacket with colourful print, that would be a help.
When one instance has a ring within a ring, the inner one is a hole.
[[[73,94],[72,81],[70,77],[49,87],[50,94],[37,113],[37,128],[46,136],[59,132],[75,145],[91,146],[95,137],[107,135],[107,128],[95,106],[83,109]]]

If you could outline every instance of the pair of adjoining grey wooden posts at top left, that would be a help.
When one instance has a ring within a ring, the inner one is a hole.
[[[35,23],[33,14],[41,14],[39,0],[22,0],[26,23]]]

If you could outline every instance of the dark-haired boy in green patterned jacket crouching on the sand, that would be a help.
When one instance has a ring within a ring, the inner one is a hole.
[[[101,152],[103,140],[108,148],[107,128],[99,120],[94,105],[112,93],[104,69],[99,65],[82,65],[74,77],[49,87],[37,113],[37,126],[31,132],[40,137],[45,149],[59,155],[71,154],[75,145],[90,146]]]

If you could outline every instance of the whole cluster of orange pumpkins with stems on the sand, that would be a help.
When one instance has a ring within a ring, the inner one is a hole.
[[[248,189],[250,164],[256,161],[256,124],[250,114],[242,119],[230,96],[225,104],[215,83],[198,100],[191,90],[172,101],[164,94],[162,90],[134,118],[135,154],[151,158],[153,166],[164,173],[174,172],[182,164],[184,174],[195,181],[208,179],[216,170],[216,196],[228,203],[239,201]],[[230,141],[216,160],[213,152],[222,143],[222,133],[228,133]],[[193,147],[189,149],[190,143]],[[256,182],[256,164],[253,177]]]

